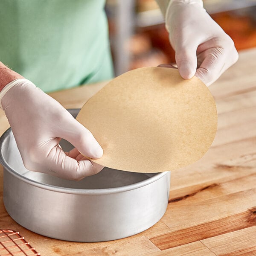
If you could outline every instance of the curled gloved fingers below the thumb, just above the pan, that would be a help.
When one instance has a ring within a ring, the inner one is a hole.
[[[90,160],[77,161],[67,156],[59,145],[56,145],[49,152],[47,163],[44,163],[44,166],[47,170],[43,170],[43,172],[67,180],[80,180],[103,169],[103,166]]]

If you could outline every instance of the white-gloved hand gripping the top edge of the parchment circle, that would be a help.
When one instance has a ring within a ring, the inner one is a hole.
[[[163,12],[166,1],[157,2]],[[210,85],[238,60],[233,40],[207,14],[202,0],[171,0],[165,17],[169,41],[184,79],[195,75]]]

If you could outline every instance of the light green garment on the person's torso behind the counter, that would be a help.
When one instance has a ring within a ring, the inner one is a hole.
[[[45,92],[110,79],[105,0],[0,0],[0,61]]]

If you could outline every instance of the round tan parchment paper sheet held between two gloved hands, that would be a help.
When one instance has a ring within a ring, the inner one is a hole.
[[[77,118],[104,154],[93,162],[129,172],[164,172],[204,156],[217,130],[215,101],[198,78],[145,67],[116,77]]]

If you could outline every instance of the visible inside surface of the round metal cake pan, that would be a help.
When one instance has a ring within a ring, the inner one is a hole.
[[[65,140],[61,140],[61,147],[64,151],[70,151],[73,145]],[[64,180],[58,177],[40,172],[31,172],[23,165],[20,152],[18,151],[12,131],[9,130],[2,145],[2,157],[5,163],[23,177],[39,183],[73,189],[108,189],[131,185],[146,180],[157,173],[136,173],[123,172],[105,167],[96,175],[85,177],[80,181]]]

